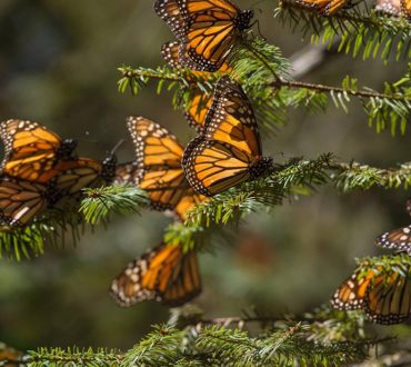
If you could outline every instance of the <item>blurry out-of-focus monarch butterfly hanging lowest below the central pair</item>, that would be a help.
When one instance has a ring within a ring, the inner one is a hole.
[[[123,307],[143,300],[181,306],[201,292],[196,251],[181,246],[160,246],[131,261],[112,281],[110,294]]]

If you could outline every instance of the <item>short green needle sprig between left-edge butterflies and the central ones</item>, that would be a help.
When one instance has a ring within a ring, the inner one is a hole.
[[[98,189],[86,189],[86,198],[80,206],[86,221],[99,225],[110,214],[139,214],[149,202],[144,191],[133,186],[109,186]]]

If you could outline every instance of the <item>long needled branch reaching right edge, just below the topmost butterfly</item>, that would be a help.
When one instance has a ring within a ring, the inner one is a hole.
[[[288,78],[289,61],[275,47],[259,38],[251,39],[248,44],[248,48],[239,48],[231,60],[232,77],[242,81],[263,131],[273,132],[275,127],[285,125],[288,108],[324,110],[331,98],[335,108],[347,112],[350,98],[354,97],[361,101],[369,125],[374,125],[377,131],[390,129],[392,135],[397,130],[405,132],[411,110],[410,72],[395,83],[385,83],[383,92],[359,88],[358,80],[350,77],[342,81],[341,87],[293,81]],[[260,57],[253,58],[250,49]],[[217,80],[212,73],[199,75],[189,70],[178,73],[169,68],[120,70],[123,75],[119,82],[121,91],[130,86],[132,92],[138,92],[142,85],[157,79],[158,92],[161,92],[164,82],[169,82],[167,90],[173,92],[174,108],[187,109],[198,91],[211,96]]]

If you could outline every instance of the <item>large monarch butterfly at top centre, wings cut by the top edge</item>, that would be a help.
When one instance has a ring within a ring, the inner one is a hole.
[[[181,42],[180,63],[200,71],[222,67],[253,17],[229,0],[157,0],[154,10]]]

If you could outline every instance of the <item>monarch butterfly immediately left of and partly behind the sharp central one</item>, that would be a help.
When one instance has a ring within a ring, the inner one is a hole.
[[[128,118],[127,126],[136,146],[134,184],[147,190],[154,210],[171,210],[186,220],[187,210],[206,198],[194,194],[184,178],[183,148],[169,131],[143,117]]]

